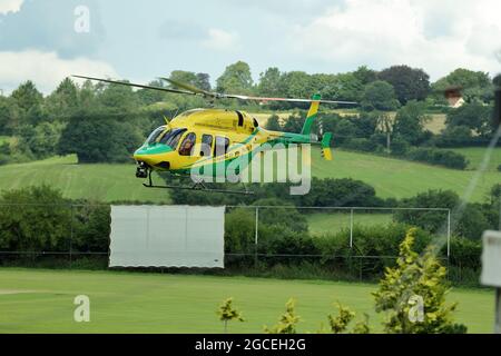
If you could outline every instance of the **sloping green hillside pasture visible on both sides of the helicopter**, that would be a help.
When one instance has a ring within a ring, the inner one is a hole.
[[[320,178],[354,178],[376,189],[383,198],[404,198],[428,189],[451,189],[460,196],[474,176],[472,170],[453,170],[405,160],[334,149],[332,161],[313,149],[313,175]],[[501,172],[487,171],[475,187],[472,201],[485,200]],[[134,165],[77,165],[75,156],[0,166],[0,190],[49,184],[69,198],[105,201],[144,200],[168,202],[168,191],[146,189],[135,177]]]

